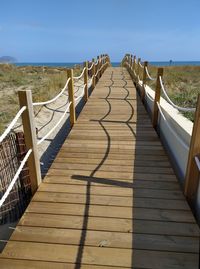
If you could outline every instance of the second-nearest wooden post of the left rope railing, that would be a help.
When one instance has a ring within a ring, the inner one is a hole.
[[[73,69],[67,69],[67,76],[71,78],[68,84],[68,94],[70,105],[70,124],[71,127],[76,123],[76,110],[75,110],[75,101],[74,101],[74,80],[73,80]]]

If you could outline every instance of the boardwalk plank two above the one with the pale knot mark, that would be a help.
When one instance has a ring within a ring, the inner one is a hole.
[[[124,207],[122,210],[122,207],[111,205],[88,204],[86,206],[83,204],[32,202],[26,212],[195,223],[195,219],[189,211],[137,207],[134,210],[131,207]]]

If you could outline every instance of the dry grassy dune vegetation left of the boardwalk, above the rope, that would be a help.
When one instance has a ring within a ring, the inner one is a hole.
[[[77,67],[74,75],[78,76],[81,71]],[[19,110],[18,90],[31,90],[33,101],[46,101],[54,97],[66,81],[66,68],[0,64],[0,133]]]

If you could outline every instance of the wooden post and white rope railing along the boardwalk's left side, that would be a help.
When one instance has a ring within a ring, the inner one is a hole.
[[[74,77],[73,69],[68,69],[67,70],[68,80],[64,88],[53,99],[45,102],[33,103],[32,92],[30,90],[18,92],[20,111],[17,113],[17,115],[12,120],[12,122],[5,130],[5,132],[0,136],[0,143],[6,138],[6,136],[10,133],[10,131],[12,131],[13,127],[15,126],[19,118],[22,117],[22,127],[24,130],[27,153],[24,159],[22,160],[18,170],[16,171],[14,178],[10,182],[10,185],[7,187],[6,192],[0,199],[0,208],[4,204],[9,193],[11,192],[26,162],[28,162],[32,194],[36,192],[39,184],[41,183],[38,145],[40,145],[57,128],[57,126],[61,124],[68,111],[70,114],[70,125],[71,128],[73,127],[73,125],[76,123],[76,109],[75,109],[76,101],[80,100],[81,98],[84,98],[85,102],[87,102],[88,89],[90,87],[94,89],[96,83],[98,82],[98,80],[100,79],[100,77],[102,76],[102,74],[109,65],[110,65],[109,56],[107,54],[103,54],[101,56],[98,56],[96,61],[93,59],[91,63],[85,62],[83,71],[79,77]],[[83,91],[76,98],[74,96],[75,80],[83,80]],[[34,107],[43,106],[55,102],[60,96],[63,95],[65,91],[68,91],[68,105],[66,107],[66,110],[63,112],[63,115],[61,116],[59,121],[55,123],[54,127],[43,138],[37,140],[35,118],[34,118]]]

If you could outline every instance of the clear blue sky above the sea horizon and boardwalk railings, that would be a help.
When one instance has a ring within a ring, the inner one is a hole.
[[[0,0],[0,56],[200,60],[200,0]]]

